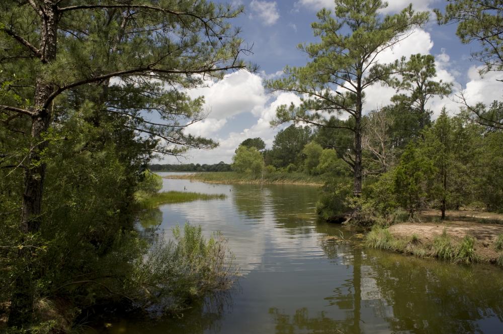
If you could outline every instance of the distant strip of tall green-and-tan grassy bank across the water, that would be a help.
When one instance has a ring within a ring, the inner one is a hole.
[[[207,172],[195,174],[167,175],[166,179],[185,179],[217,184],[298,184],[320,187],[323,185],[321,178],[304,173],[267,173],[264,179],[236,172]]]

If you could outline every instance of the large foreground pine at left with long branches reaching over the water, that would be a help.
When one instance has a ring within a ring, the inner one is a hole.
[[[102,127],[103,141],[121,129],[119,134],[143,142],[142,158],[216,146],[184,132],[205,115],[203,99],[191,99],[185,88],[201,83],[198,74],[220,77],[244,67],[241,40],[227,23],[240,12],[196,0],[0,4],[0,76],[7,82],[0,113],[8,131],[29,134],[26,149],[9,154],[15,163],[8,164],[24,166],[22,243],[42,226],[47,134],[57,137],[78,110],[91,110],[83,121]],[[34,254],[26,249],[19,254],[19,265],[31,271],[38,261]],[[38,277],[17,278],[11,325],[30,322]]]

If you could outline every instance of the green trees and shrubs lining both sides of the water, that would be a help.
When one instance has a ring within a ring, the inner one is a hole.
[[[293,175],[322,185],[319,217],[359,227],[420,222],[426,209],[440,220],[449,210],[503,213],[501,96],[488,105],[453,96],[432,55],[377,61],[433,20],[456,25],[460,41],[479,50],[480,75],[500,72],[503,5],[450,0],[434,14],[412,6],[382,14],[386,6],[335,0],[317,13],[318,42],[298,46],[305,66],[264,81],[271,94],[300,98],[276,109],[271,148],[249,138],[231,164],[176,165],[154,159],[218,146],[188,131],[208,117],[204,96],[190,90],[258,71],[232,24],[244,6],[0,1],[0,329],[62,333],[110,314],[177,317],[232,285],[236,268],[220,236],[191,225],[171,241],[142,236],[138,212],[162,187],[152,171],[232,170],[262,182]],[[377,83],[396,94],[366,112]],[[438,97],[459,109],[430,109]],[[377,229],[373,237],[385,233]]]

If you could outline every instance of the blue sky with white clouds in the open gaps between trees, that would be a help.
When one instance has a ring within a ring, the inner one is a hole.
[[[220,82],[207,82],[207,87],[192,90],[192,96],[204,95],[206,120],[191,126],[188,132],[217,140],[220,146],[211,151],[193,150],[180,163],[231,162],[235,148],[246,138],[261,137],[268,147],[272,146],[274,135],[281,129],[272,129],[269,122],[274,118],[278,105],[298,102],[291,93],[268,94],[263,87],[265,78],[281,76],[286,65],[303,66],[307,57],[297,49],[299,43],[316,42],[310,24],[316,21],[316,12],[322,7],[333,8],[333,0],[232,0],[243,5],[245,13],[231,21],[241,27],[245,43],[253,44],[253,55],[247,60],[259,65],[258,73],[234,72]],[[443,9],[443,0],[391,0],[383,11],[393,14],[409,3],[418,11]],[[430,108],[438,115],[443,106],[451,114],[459,110],[456,94],[461,90],[469,102],[489,103],[501,99],[501,84],[495,81],[495,73],[480,78],[470,54],[479,47],[477,43],[461,44],[455,35],[456,26],[439,26],[432,14],[430,23],[416,29],[406,40],[382,56],[383,62],[390,62],[401,56],[414,53],[432,54],[436,57],[438,78],[453,83],[453,95],[431,101]],[[394,91],[388,87],[373,86],[367,92],[366,112],[389,103]],[[176,163],[172,157],[160,160]]]

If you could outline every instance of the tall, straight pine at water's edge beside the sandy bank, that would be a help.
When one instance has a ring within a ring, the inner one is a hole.
[[[349,114],[354,121],[346,129],[354,134],[353,193],[362,191],[362,112],[365,89],[394,73],[393,66],[381,66],[377,56],[407,37],[410,28],[428,20],[428,13],[414,14],[412,7],[398,14],[382,16],[387,6],[379,0],[336,0],[334,16],[323,9],[312,24],[319,43],[299,45],[311,59],[304,67],[286,67],[287,77],[269,81],[272,90],[299,94],[299,106],[282,105],[277,109],[277,122],[304,122],[320,127],[330,126],[324,113]],[[347,159],[348,161],[350,158]]]

